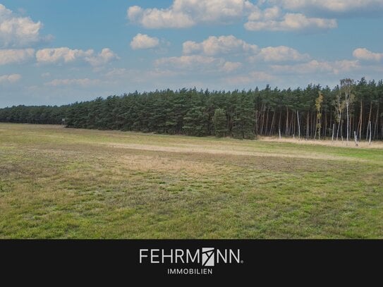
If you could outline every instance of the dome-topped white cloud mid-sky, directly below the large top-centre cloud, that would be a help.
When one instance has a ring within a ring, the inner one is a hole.
[[[183,54],[205,54],[207,56],[231,53],[253,54],[257,49],[257,45],[248,44],[233,35],[220,37],[211,36],[200,43],[193,41],[183,43]]]

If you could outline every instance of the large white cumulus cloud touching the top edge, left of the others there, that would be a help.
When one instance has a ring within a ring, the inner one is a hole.
[[[169,8],[128,8],[128,18],[145,28],[188,28],[198,23],[228,23],[255,6],[247,0],[174,0]]]

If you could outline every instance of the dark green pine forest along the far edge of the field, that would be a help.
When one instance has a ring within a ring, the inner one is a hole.
[[[334,88],[133,92],[63,106],[0,109],[8,123],[254,139],[257,135],[383,139],[383,80],[343,79]]]

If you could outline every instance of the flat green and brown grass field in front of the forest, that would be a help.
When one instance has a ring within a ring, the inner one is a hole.
[[[383,149],[302,142],[0,124],[0,238],[383,238]]]

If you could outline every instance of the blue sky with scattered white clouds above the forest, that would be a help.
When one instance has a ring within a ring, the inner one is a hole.
[[[0,107],[383,78],[383,0],[0,0]]]

